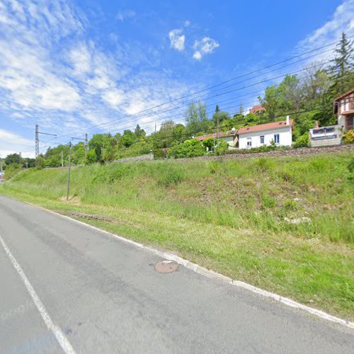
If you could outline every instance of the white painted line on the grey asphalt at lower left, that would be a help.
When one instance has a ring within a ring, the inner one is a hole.
[[[23,272],[21,265],[18,264],[18,261],[16,261],[16,258],[13,256],[11,253],[10,249],[8,249],[8,246],[6,245],[4,239],[0,235],[0,242],[1,245],[4,247],[4,250],[10,258],[10,261],[13,265],[13,268],[16,269],[18,275],[20,275],[21,280],[25,284],[25,287],[28,290],[28,293],[30,294],[30,297],[32,297],[33,302],[35,303],[35,306],[37,307],[38,311],[40,312],[40,316],[42,316],[43,321],[45,322],[45,325],[47,326],[47,329],[52,331],[52,333],[55,335],[55,338],[57,338],[57,341],[59,345],[62,347],[62,350],[64,350],[64,353],[66,354],[75,354],[74,348],[72,348],[72,345],[68,341],[67,337],[64,335],[62,330],[59,328],[59,326],[56,326],[52,319],[50,318],[50,315],[47,313],[47,310],[45,309],[44,304],[42,301],[40,301],[40,298],[38,297],[37,293],[33,289],[33,286],[30,284],[30,281],[26,277],[25,273]]]

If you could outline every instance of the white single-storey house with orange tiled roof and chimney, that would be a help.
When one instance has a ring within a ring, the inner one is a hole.
[[[282,120],[281,122],[240,128],[237,132],[239,135],[239,149],[270,145],[272,141],[277,146],[291,147],[292,130],[294,130],[294,120],[289,119],[288,115],[287,120]]]

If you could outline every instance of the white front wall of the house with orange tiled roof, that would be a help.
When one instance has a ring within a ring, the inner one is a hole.
[[[278,135],[279,142],[276,141]],[[263,139],[261,139],[263,137]],[[239,135],[239,149],[251,149],[252,147],[261,147],[262,145],[270,145],[274,140],[278,146],[292,146],[292,127],[286,126],[278,129],[263,130],[259,132],[249,132]],[[250,145],[251,144],[251,145]]]

